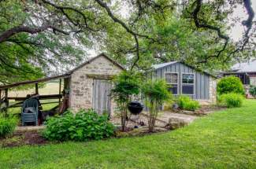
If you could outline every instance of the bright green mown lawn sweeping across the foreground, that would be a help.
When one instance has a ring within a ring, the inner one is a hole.
[[[0,168],[256,168],[256,101],[164,134],[1,149]]]

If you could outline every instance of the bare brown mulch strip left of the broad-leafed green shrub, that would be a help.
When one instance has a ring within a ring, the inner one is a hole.
[[[45,145],[49,143],[37,130],[16,131],[12,137],[0,139],[0,147],[20,145]]]

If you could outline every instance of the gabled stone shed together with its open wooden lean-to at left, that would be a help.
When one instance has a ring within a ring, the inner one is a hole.
[[[115,103],[110,97],[111,79],[123,70],[124,68],[120,64],[102,53],[63,75],[0,85],[0,108],[5,108],[6,110],[11,107],[21,107],[23,101],[28,99],[28,97],[9,96],[9,90],[17,86],[35,84],[35,92],[28,95],[36,95],[40,101],[45,100],[41,105],[58,103],[57,106],[50,110],[42,110],[44,112],[62,113],[67,108],[76,112],[81,108],[94,108],[99,114],[103,112],[111,114],[115,109]],[[59,80],[59,87],[56,90],[58,94],[41,94],[39,83],[47,83],[53,80],[55,82]],[[63,88],[61,87],[62,80],[64,80]],[[58,101],[56,101],[57,99]],[[9,102],[13,101],[16,102],[10,105]]]

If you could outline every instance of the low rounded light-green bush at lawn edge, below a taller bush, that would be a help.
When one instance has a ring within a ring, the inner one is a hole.
[[[228,108],[238,108],[243,105],[244,97],[241,94],[222,94],[218,97],[218,105],[226,106]]]

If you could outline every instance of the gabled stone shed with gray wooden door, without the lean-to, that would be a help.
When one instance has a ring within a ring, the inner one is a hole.
[[[93,57],[69,72],[65,90],[69,90],[69,108],[94,108],[99,114],[113,112],[110,98],[111,79],[124,68],[104,53]]]

